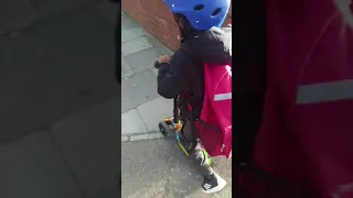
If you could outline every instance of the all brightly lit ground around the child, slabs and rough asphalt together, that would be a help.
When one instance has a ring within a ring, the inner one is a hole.
[[[121,197],[231,198],[232,161],[215,158],[216,172],[228,183],[220,194],[201,191],[202,178],[176,146],[164,139],[158,123],[172,114],[172,100],[157,94],[160,55],[172,53],[122,14],[121,41]]]

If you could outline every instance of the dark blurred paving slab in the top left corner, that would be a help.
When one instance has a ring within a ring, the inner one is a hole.
[[[28,28],[39,20],[39,13],[30,0],[0,1],[0,35]]]

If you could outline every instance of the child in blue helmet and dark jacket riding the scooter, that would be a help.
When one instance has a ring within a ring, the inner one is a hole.
[[[181,118],[200,117],[204,96],[204,63],[232,65],[232,28],[222,28],[231,0],[164,0],[180,28],[181,47],[170,59],[161,56],[158,63],[158,94],[167,99],[180,96]],[[183,95],[188,94],[188,99]],[[188,100],[188,101],[185,101]],[[192,106],[189,112],[186,103]],[[184,123],[184,146],[204,176],[202,189],[217,193],[226,182],[214,173],[207,156],[197,143],[193,122]]]

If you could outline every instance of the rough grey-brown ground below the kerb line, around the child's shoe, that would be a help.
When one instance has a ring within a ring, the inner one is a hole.
[[[215,158],[216,172],[228,186],[216,195],[201,191],[196,168],[171,140],[122,143],[121,197],[125,198],[231,198],[232,161]]]

